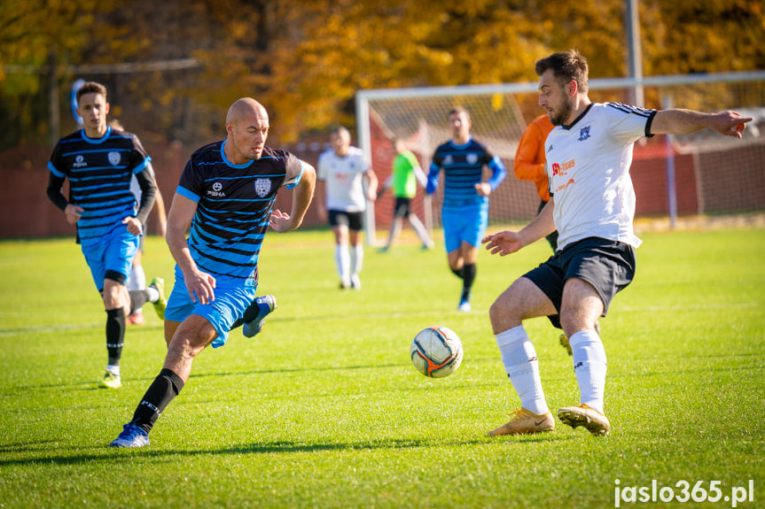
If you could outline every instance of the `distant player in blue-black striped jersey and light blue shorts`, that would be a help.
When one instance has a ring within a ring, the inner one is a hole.
[[[433,162],[427,175],[425,192],[433,194],[443,170],[443,204],[441,222],[446,243],[449,268],[462,279],[459,311],[471,310],[470,290],[475,281],[475,262],[480,239],[488,224],[488,196],[504,180],[507,171],[500,158],[470,135],[470,114],[457,107],[449,112],[452,139],[441,144],[433,153]],[[483,181],[483,167],[487,166],[491,178]]]

